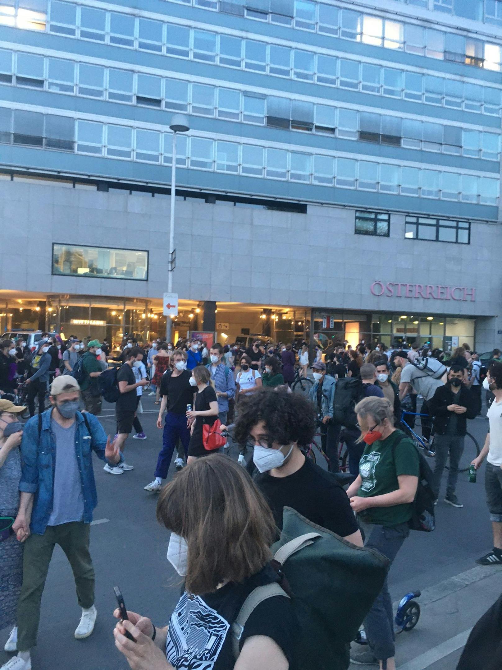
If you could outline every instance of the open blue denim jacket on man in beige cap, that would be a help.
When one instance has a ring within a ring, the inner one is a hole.
[[[51,430],[52,408],[41,417],[40,441],[38,440],[38,416],[26,422],[21,442],[21,481],[19,490],[34,493],[33,511],[31,512],[31,533],[44,535],[52,512],[54,493],[54,471],[56,469],[56,440]],[[92,521],[92,511],[98,504],[94,470],[92,469],[92,452],[105,460],[106,433],[98,419],[86,412],[90,434],[84,417],[76,414],[75,452],[78,469],[82,480],[84,494],[84,523]]]

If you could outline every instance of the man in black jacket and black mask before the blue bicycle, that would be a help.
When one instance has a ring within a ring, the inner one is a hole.
[[[461,365],[452,365],[448,372],[448,381],[436,389],[429,402],[429,411],[434,417],[435,433],[434,497],[437,502],[441,476],[449,456],[450,472],[444,502],[448,502],[452,507],[463,507],[455,495],[458,466],[464,452],[466,419],[475,419],[477,413],[473,392],[464,383],[464,370]]]

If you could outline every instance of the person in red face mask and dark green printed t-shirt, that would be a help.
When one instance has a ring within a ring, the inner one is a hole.
[[[364,533],[365,547],[377,549],[394,561],[408,537],[420,465],[412,440],[394,428],[394,410],[385,398],[369,397],[355,405],[357,423],[365,443],[359,475],[347,488],[347,496]],[[365,620],[370,653],[362,651],[351,660],[395,670],[394,616],[387,578]],[[373,658],[371,658],[371,654]]]

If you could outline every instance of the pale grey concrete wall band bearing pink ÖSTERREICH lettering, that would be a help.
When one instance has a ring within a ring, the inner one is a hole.
[[[169,198],[2,181],[0,212],[0,289],[147,298],[160,298],[167,289]],[[149,281],[52,276],[53,242],[148,249]],[[309,206],[305,215],[177,202],[175,246],[174,289],[185,299],[499,313],[501,279],[490,271],[499,266],[502,247],[497,224],[474,222],[471,245],[455,245],[405,239],[402,214],[392,215],[390,237],[380,238],[354,235],[354,210],[346,208]],[[375,281],[473,287],[475,301],[469,295],[404,297],[406,287],[402,297],[396,287],[392,297],[377,297],[371,294]],[[498,322],[483,323],[478,336],[493,343]]]

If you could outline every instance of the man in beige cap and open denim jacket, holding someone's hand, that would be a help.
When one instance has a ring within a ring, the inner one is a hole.
[[[13,657],[3,670],[30,670],[36,644],[40,601],[52,552],[60,545],[72,566],[82,618],[76,639],[94,630],[94,568],[89,553],[90,522],[97,504],[92,452],[115,465],[118,446],[90,413],[78,411],[80,387],[69,375],[51,385],[51,409],[27,421],[21,442],[21,501],[13,530],[25,541],[23,586],[17,630],[9,638]]]

